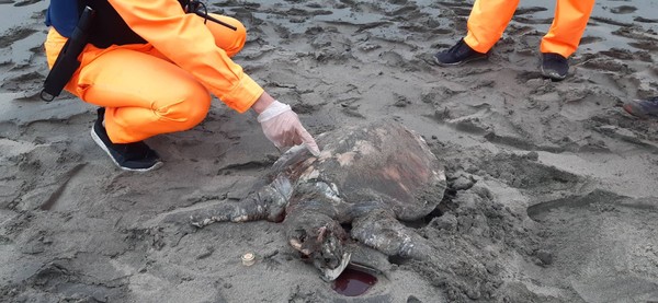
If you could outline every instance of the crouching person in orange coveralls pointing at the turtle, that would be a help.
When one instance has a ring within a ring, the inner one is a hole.
[[[230,59],[245,45],[245,26],[228,16],[189,13],[196,1],[52,0],[44,44],[50,68],[86,5],[95,11],[91,34],[65,90],[101,106],[91,136],[122,170],[158,167],[159,155],[143,140],[200,124],[211,94],[238,113],[253,109],[277,148],[306,144],[319,153],[291,107]]]

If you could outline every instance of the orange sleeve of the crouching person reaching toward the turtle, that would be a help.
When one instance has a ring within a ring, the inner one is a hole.
[[[192,73],[211,93],[239,113],[263,89],[235,63],[203,24],[177,0],[109,0],[128,26],[175,65]]]

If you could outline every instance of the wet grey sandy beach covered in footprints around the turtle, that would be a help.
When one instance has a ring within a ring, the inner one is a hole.
[[[310,133],[396,120],[445,163],[444,200],[413,226],[436,258],[390,259],[360,296],[281,224],[163,220],[246,197],[280,151],[215,98],[148,139],[161,168],[120,171],[93,105],[38,98],[47,3],[0,1],[0,302],[658,302],[658,119],[621,106],[658,95],[657,0],[598,1],[561,82],[538,71],[553,1],[521,1],[489,60],[458,68],[432,55],[473,1],[207,1],[245,23],[235,61]]]

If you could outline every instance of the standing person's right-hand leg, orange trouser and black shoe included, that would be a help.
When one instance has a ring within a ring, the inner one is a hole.
[[[553,24],[540,45],[544,77],[554,80],[567,77],[567,58],[578,48],[593,8],[594,0],[557,1]]]

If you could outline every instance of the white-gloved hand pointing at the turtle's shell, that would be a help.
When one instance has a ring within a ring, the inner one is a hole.
[[[306,131],[297,114],[290,105],[279,101],[272,102],[265,110],[258,115],[258,121],[263,128],[263,133],[279,149],[305,144],[315,156],[320,154],[318,144],[310,133]]]

